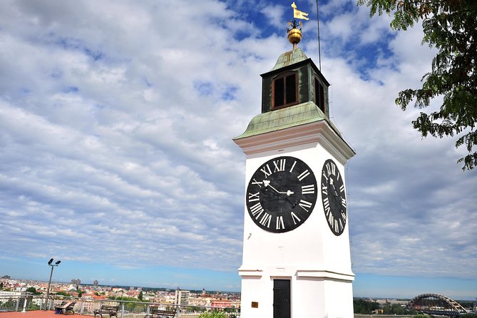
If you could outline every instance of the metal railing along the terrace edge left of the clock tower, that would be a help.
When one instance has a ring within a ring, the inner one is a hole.
[[[175,311],[175,318],[198,318],[203,312],[222,312],[227,318],[240,318],[240,308],[210,307],[210,306],[190,306],[178,304],[161,304],[158,302],[133,302],[129,300],[113,299],[87,299],[75,297],[49,297],[46,304],[46,297],[43,295],[17,295],[1,296],[0,312],[27,312],[32,310],[55,310],[64,302],[76,302],[73,307],[75,314],[83,316],[93,316],[94,311],[101,305],[115,305],[119,307],[118,318],[143,318],[150,317],[150,307]]]

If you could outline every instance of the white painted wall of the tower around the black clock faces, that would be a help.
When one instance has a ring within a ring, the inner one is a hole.
[[[306,134],[307,127],[299,129]],[[283,132],[280,134],[283,135]],[[242,276],[241,316],[244,318],[273,317],[273,279],[291,280],[292,318],[353,317],[354,275],[348,222],[342,235],[335,236],[329,230],[321,199],[324,161],[333,159],[344,176],[343,157],[340,157],[342,153],[339,149],[330,151],[329,144],[325,148],[319,138],[315,139],[316,142],[297,145],[289,145],[290,140],[287,140],[287,146],[281,148],[277,145],[270,150],[270,144],[266,145],[267,138],[264,138],[264,149],[267,150],[260,152],[260,140],[258,145],[255,140],[253,153],[247,154],[245,190],[262,163],[282,155],[291,155],[303,160],[313,170],[319,193],[312,214],[306,222],[290,232],[262,230],[252,221],[245,207],[243,258],[239,269]],[[252,302],[258,302],[258,308],[252,308]]]

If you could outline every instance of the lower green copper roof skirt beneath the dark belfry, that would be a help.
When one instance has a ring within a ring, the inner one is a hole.
[[[282,108],[277,111],[269,111],[255,116],[250,120],[245,133],[242,133],[242,135],[237,136],[234,139],[260,135],[262,133],[270,133],[271,131],[304,125],[319,120],[327,120],[327,117],[324,116],[324,113],[318,108],[317,104],[309,101],[307,103],[301,103],[296,106]],[[330,123],[330,125],[332,124]],[[337,130],[334,125],[332,125],[332,127],[339,133],[339,130]]]

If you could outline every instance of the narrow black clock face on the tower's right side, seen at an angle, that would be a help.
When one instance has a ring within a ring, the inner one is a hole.
[[[342,235],[347,220],[346,191],[343,176],[331,159],[324,162],[322,169],[322,201],[329,229],[334,235]]]

